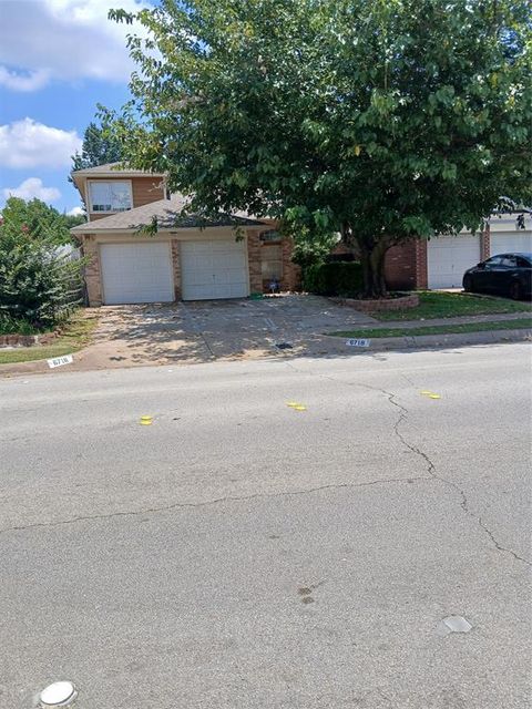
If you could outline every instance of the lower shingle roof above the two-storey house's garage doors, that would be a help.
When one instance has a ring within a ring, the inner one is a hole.
[[[233,216],[221,214],[219,218],[205,219],[198,215],[182,216],[181,210],[186,205],[182,195],[173,195],[171,199],[160,199],[127,212],[117,212],[103,219],[86,222],[74,226],[72,234],[92,234],[94,232],[136,232],[150,226],[157,219],[157,229],[168,232],[177,228],[198,228],[214,226],[259,226],[268,224],[245,213],[238,212]]]

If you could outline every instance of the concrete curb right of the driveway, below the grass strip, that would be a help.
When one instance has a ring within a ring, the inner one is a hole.
[[[324,336],[327,340],[335,339],[346,342],[349,338],[332,335]],[[494,342],[523,342],[532,341],[532,330],[521,328],[515,330],[484,330],[483,332],[450,332],[448,335],[412,335],[401,337],[379,337],[369,339],[368,347],[349,347],[342,349],[354,352],[378,352],[382,350],[413,350],[438,347],[457,347],[462,345],[490,345]]]

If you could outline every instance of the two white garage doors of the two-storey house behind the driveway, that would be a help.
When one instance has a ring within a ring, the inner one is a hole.
[[[175,300],[168,242],[102,244],[100,261],[106,305]],[[180,270],[184,300],[249,295],[245,242],[181,242]]]

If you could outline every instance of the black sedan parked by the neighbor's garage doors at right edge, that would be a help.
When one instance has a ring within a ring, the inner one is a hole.
[[[498,254],[463,275],[468,292],[492,292],[514,300],[532,295],[532,254]]]

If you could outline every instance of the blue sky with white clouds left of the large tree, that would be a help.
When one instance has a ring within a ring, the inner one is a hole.
[[[80,207],[68,183],[96,103],[129,97],[131,25],[110,8],[149,0],[0,0],[0,208],[10,194],[55,208]]]

